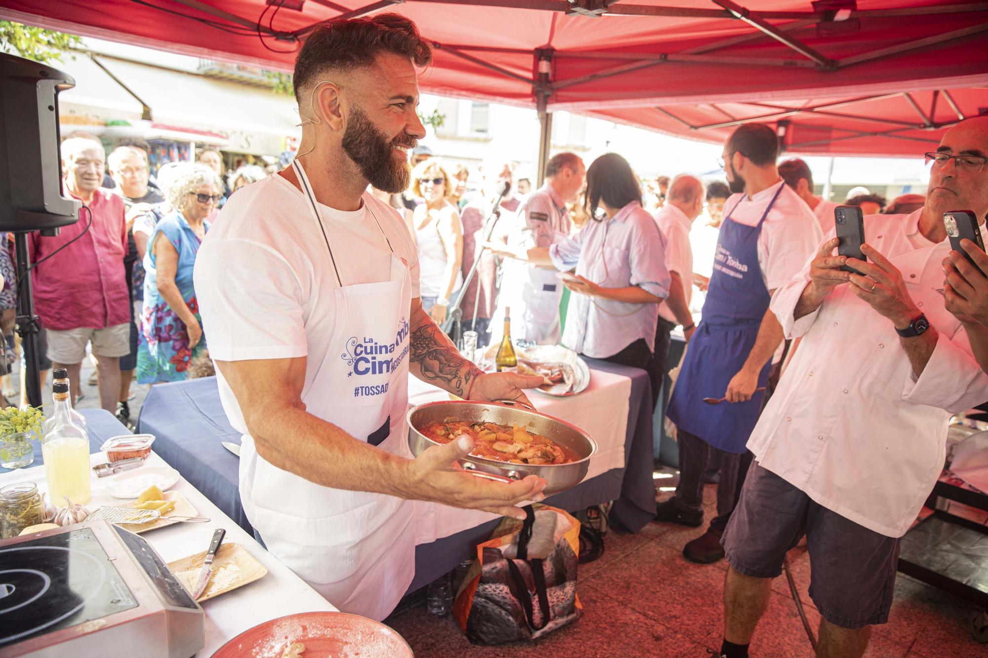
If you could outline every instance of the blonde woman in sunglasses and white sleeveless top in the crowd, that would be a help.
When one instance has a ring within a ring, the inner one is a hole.
[[[412,224],[419,250],[422,308],[437,324],[446,321],[453,291],[463,284],[463,225],[450,203],[455,182],[435,158],[412,171],[412,193],[425,201],[415,208]]]

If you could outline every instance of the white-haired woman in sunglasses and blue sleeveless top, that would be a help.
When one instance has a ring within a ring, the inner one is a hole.
[[[189,165],[165,190],[172,211],[148,238],[144,254],[144,308],[137,348],[137,381],[185,379],[187,368],[206,347],[193,270],[206,237],[206,217],[222,198],[216,173]]]

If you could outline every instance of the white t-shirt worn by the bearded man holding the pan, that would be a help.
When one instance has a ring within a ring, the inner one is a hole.
[[[404,219],[370,193],[363,201],[354,211],[319,205],[334,269],[308,202],[283,176],[230,197],[196,258],[196,296],[212,359],[306,357],[304,395],[334,335],[337,270],[343,286],[387,281],[390,242],[408,263],[412,296],[419,296],[418,257]],[[230,424],[248,434],[218,370],[216,379]]]

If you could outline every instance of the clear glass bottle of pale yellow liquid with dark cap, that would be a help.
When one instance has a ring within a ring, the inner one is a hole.
[[[85,505],[92,497],[89,470],[89,435],[72,422],[69,411],[68,384],[58,382],[51,387],[54,400],[53,427],[41,443],[44,458],[44,478],[48,482],[48,500],[65,507],[71,503]]]

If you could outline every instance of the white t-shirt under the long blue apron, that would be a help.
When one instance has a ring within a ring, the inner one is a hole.
[[[782,193],[769,211],[758,237],[758,265],[766,288],[774,290],[788,284],[802,270],[823,241],[820,224],[806,202],[780,181],[751,199],[733,195],[724,204],[724,220],[745,226],[757,226],[765,208],[782,186]]]

